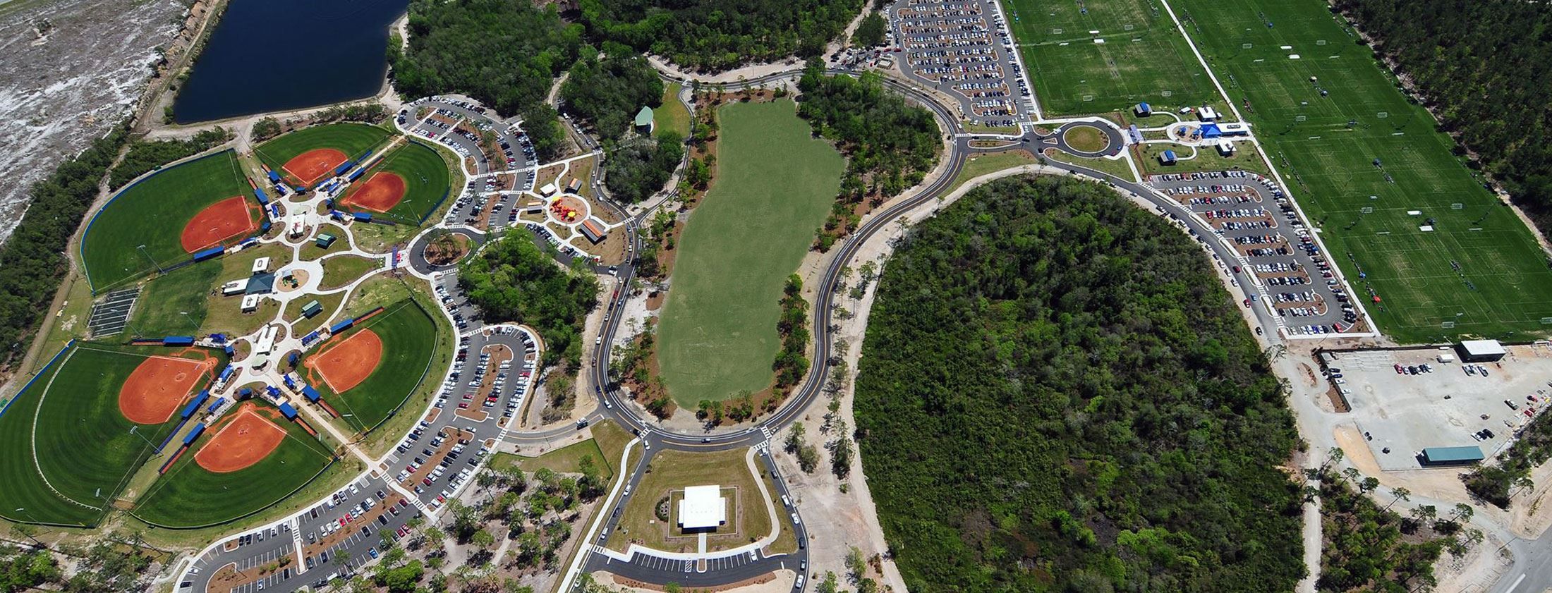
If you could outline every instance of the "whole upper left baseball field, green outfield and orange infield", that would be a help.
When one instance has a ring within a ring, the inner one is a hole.
[[[81,238],[93,290],[118,286],[191,253],[258,230],[258,202],[233,151],[169,166],[98,211]]]

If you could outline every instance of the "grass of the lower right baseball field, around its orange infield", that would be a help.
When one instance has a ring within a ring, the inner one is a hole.
[[[444,337],[436,331],[431,317],[413,300],[390,304],[383,312],[334,337],[329,345],[310,354],[326,351],[362,329],[371,329],[383,342],[383,357],[377,368],[360,385],[345,393],[334,393],[321,379],[309,383],[323,399],[355,430],[371,430],[394,413],[410,393],[425,379],[431,354]],[[304,371],[304,376],[310,374]]]

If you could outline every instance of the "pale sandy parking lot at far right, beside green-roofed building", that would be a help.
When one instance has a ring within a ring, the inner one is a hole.
[[[1439,354],[1456,355],[1439,349],[1329,352],[1327,365],[1338,371],[1329,380],[1347,391],[1350,416],[1380,469],[1415,470],[1426,447],[1478,446],[1493,456],[1543,411],[1552,394],[1552,351],[1509,351],[1498,363],[1439,362]]]

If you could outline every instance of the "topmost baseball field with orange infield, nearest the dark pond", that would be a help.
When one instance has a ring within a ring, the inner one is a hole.
[[[379,147],[390,132],[368,124],[323,124],[303,127],[253,149],[265,166],[287,182],[312,186],[334,174],[334,168]]]

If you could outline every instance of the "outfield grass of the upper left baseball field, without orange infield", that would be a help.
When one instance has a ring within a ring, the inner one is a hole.
[[[157,265],[188,259],[178,236],[189,219],[211,203],[250,194],[231,151],[161,169],[121,189],[81,238],[92,289],[101,292]]]

